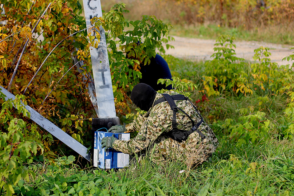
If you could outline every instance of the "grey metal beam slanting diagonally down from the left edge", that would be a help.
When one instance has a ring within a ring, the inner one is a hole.
[[[6,100],[8,99],[15,99],[15,96],[11,93],[9,93],[5,88],[0,86],[1,93],[6,95]],[[24,105],[23,105],[24,106]],[[42,128],[44,128],[46,131],[54,135],[57,139],[65,143],[67,146],[69,146],[71,149],[76,151],[78,154],[80,154],[83,158],[85,158],[88,161],[91,161],[91,154],[87,153],[87,148],[83,146],[81,143],[79,143],[77,140],[69,136],[67,133],[65,133],[63,130],[61,130],[59,127],[51,123],[49,120],[44,118],[41,114],[36,112],[33,108],[26,105],[24,106],[29,113],[31,113],[31,120],[33,120],[35,123],[40,125]]]

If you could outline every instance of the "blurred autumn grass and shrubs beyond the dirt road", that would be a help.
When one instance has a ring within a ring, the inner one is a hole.
[[[101,1],[109,8],[120,1]],[[173,25],[171,35],[294,44],[292,0],[126,0],[128,20],[154,15]]]

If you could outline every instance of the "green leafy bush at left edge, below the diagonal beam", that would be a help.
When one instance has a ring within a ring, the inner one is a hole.
[[[27,124],[24,120],[14,118],[11,114],[13,105],[17,108],[21,116],[29,117],[30,113],[24,108],[21,99],[24,96],[16,95],[15,100],[3,101],[6,97],[0,91],[0,195],[4,190],[6,195],[14,194],[13,186],[15,186],[21,179],[29,182],[34,180],[36,174],[28,169],[24,163],[31,161],[31,155],[43,153],[44,146],[41,141],[36,124]]]

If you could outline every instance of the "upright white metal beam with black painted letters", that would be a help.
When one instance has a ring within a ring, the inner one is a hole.
[[[100,0],[83,0],[83,5],[86,18],[86,26],[90,27],[90,19],[92,19],[93,17],[102,16],[101,3]],[[101,37],[98,47],[90,48],[97,97],[98,117],[111,118],[116,117],[113,89],[111,84],[105,31],[102,26],[99,27],[99,29]],[[92,36],[95,36],[93,32]],[[98,41],[98,39],[95,38],[94,41]]]

